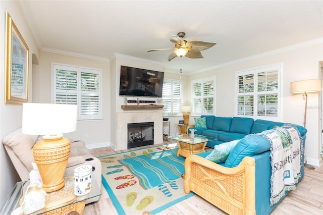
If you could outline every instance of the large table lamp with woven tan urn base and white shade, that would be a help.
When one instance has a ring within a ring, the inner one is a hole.
[[[43,189],[52,192],[64,187],[64,172],[71,154],[71,141],[63,133],[76,130],[77,105],[23,103],[22,133],[44,135],[33,147]]]

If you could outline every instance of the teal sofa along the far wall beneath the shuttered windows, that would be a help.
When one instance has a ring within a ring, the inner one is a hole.
[[[272,129],[275,126],[284,125],[282,122],[268,120],[254,121],[252,118],[247,117],[216,117],[211,115],[202,115],[200,118],[204,117],[206,121],[206,128],[196,128],[194,125],[190,125],[188,126],[188,133],[191,133],[190,129],[195,129],[195,134],[219,139],[207,142],[206,146],[210,148],[214,148],[215,145],[224,142],[242,139],[248,134],[261,133],[262,131]],[[295,126],[298,128],[298,130],[302,132],[304,131],[302,126]],[[301,133],[301,135],[303,134]]]

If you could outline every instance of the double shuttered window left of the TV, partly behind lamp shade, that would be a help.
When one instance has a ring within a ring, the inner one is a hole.
[[[52,100],[77,104],[78,119],[101,119],[101,70],[52,64]]]

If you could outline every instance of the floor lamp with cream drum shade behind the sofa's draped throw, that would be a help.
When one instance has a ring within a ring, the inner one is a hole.
[[[307,93],[321,91],[321,86],[322,84],[320,79],[291,82],[291,93],[303,93],[303,99],[305,100],[304,128],[306,127]],[[304,168],[314,170],[315,168],[312,165],[307,164],[306,156],[304,159]]]

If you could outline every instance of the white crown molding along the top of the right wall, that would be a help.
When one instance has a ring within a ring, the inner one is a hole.
[[[238,60],[235,60],[235,61],[229,61],[229,62],[224,63],[224,64],[219,64],[219,65],[216,65],[216,66],[213,66],[213,67],[205,68],[205,69],[198,70],[198,71],[195,71],[195,72],[191,72],[191,73],[188,73],[188,74],[192,75],[192,74],[197,74],[197,73],[201,73],[201,72],[210,71],[210,70],[213,70],[213,69],[219,69],[219,68],[227,67],[227,66],[230,66],[230,65],[239,64],[239,63],[243,63],[243,62],[247,62],[247,61],[251,61],[251,60],[255,60],[255,59],[259,59],[259,58],[263,58],[263,57],[267,57],[267,56],[277,55],[278,53],[291,51],[291,50],[295,50],[295,49],[299,49],[299,48],[303,48],[303,47],[307,47],[307,46],[311,46],[311,45],[316,45],[316,44],[320,44],[320,43],[323,43],[323,37],[319,37],[317,39],[312,39],[312,40],[308,40],[308,41],[305,41],[305,42],[297,43],[297,44],[294,44],[294,45],[285,46],[283,48],[278,48],[278,49],[274,49],[274,50],[271,50],[271,51],[262,52],[262,53],[259,53],[257,55],[249,56],[249,57],[246,57],[246,58],[241,58],[241,59],[238,59]]]

